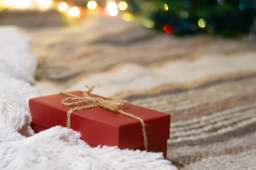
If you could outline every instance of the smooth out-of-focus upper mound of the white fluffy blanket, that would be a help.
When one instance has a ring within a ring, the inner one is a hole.
[[[37,58],[30,52],[30,39],[12,26],[0,28],[0,72],[35,82]]]

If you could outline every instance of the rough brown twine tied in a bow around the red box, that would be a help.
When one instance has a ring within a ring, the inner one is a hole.
[[[119,108],[119,107],[127,104],[127,101],[125,101],[125,100],[113,101],[113,100],[105,100],[105,99],[99,98],[99,97],[91,97],[88,94],[93,91],[93,88],[95,86],[92,86],[92,87],[86,86],[86,87],[88,90],[87,90],[87,92],[83,93],[83,95],[84,95],[83,97],[79,97],[79,96],[76,96],[76,95],[73,95],[70,93],[66,93],[66,92],[61,92],[61,94],[70,96],[69,98],[63,99],[62,104],[64,106],[76,106],[78,104],[87,104],[85,106],[74,107],[67,112],[67,127],[71,128],[71,114],[74,111],[90,109],[90,108],[94,108],[94,107],[101,107],[101,108],[109,110],[113,113],[119,113],[119,114],[126,115],[128,117],[135,118],[135,119],[139,120],[141,123],[141,126],[142,126],[144,147],[145,147],[145,150],[148,151],[148,139],[147,139],[147,133],[145,130],[146,124],[144,123],[143,119],[140,117],[137,117],[131,113],[124,112],[122,109]]]

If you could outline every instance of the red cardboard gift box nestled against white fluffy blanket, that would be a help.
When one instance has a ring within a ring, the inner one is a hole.
[[[82,91],[69,93],[83,96]],[[92,94],[89,96],[110,100]],[[66,127],[67,112],[77,107],[77,105],[64,106],[61,103],[64,98],[68,97],[60,93],[29,100],[32,128],[35,133],[57,125]],[[84,105],[86,104],[79,104],[79,106]],[[126,104],[120,109],[143,119],[146,124],[148,151],[162,152],[166,157],[170,115],[132,104]],[[113,113],[101,107],[94,107],[72,112],[71,123],[71,128],[81,133],[81,140],[86,141],[92,147],[107,145],[118,146],[120,149],[145,150],[142,124],[135,118]]]

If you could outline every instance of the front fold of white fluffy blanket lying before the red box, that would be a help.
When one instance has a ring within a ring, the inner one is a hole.
[[[6,124],[0,132],[3,170],[175,170],[160,153],[84,147],[79,133],[59,126],[29,138]]]

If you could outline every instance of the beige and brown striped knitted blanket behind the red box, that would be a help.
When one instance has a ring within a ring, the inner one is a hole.
[[[247,38],[175,38],[103,17],[24,32],[41,95],[95,85],[169,113],[168,159],[178,168],[256,169],[256,44]]]

